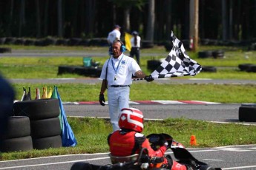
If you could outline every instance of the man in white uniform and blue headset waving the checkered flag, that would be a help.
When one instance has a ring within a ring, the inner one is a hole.
[[[118,115],[122,108],[129,107],[130,86],[132,75],[154,81],[151,75],[145,75],[134,58],[124,55],[125,45],[115,40],[111,47],[113,55],[105,61],[100,79],[102,86],[99,92],[99,103],[105,106],[104,92],[108,89],[108,109],[113,131],[119,130]]]

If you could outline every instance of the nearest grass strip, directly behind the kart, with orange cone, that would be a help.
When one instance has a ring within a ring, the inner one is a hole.
[[[0,160],[15,160],[61,154],[108,152],[107,137],[112,127],[108,120],[98,118],[68,118],[77,140],[77,146],[57,149],[30,150],[0,154]],[[241,133],[243,132],[243,133]],[[234,123],[218,124],[186,118],[168,118],[162,121],[146,121],[145,135],[167,133],[186,147],[216,147],[255,144],[256,126]],[[197,146],[190,146],[191,135],[196,136]]]

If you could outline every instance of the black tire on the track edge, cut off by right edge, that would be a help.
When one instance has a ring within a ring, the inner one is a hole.
[[[256,122],[256,106],[240,106],[238,118],[239,121]]]

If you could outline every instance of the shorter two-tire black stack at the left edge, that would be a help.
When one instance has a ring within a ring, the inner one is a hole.
[[[30,136],[30,119],[27,116],[9,117],[0,152],[19,152],[30,149],[33,149]]]

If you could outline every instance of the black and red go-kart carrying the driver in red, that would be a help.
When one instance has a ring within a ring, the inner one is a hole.
[[[160,146],[160,140],[163,137],[168,142],[168,149],[172,150],[178,163],[189,165],[193,170],[221,170],[220,168],[213,168],[206,163],[197,160],[190,152],[188,152],[182,143],[177,142],[170,135],[164,133],[151,134],[147,136],[149,142],[151,143],[151,148],[157,150]],[[140,154],[133,154],[128,157],[116,157],[111,154],[109,154],[109,156],[112,164],[99,166],[91,163],[77,162],[73,164],[71,170],[165,170],[165,168],[162,166],[163,157],[149,157],[147,149],[142,149]],[[168,155],[167,157],[171,156]]]

